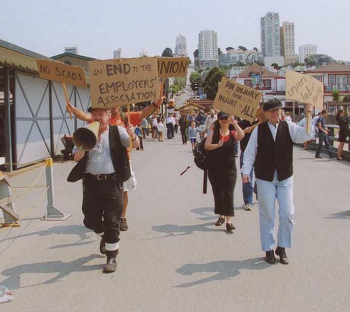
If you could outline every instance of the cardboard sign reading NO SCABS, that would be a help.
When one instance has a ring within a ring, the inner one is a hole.
[[[63,82],[84,89],[87,87],[82,67],[44,59],[37,59],[37,65],[42,79]]]

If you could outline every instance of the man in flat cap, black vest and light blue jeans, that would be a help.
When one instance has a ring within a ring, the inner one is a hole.
[[[249,172],[254,166],[258,192],[261,249],[266,252],[266,261],[275,263],[275,201],[279,205],[279,227],[276,255],[282,264],[288,264],[285,248],[291,248],[293,230],[293,143],[304,143],[313,135],[313,125],[300,127],[293,122],[281,121],[282,103],[269,99],[264,111],[269,120],[257,126],[244,152],[242,181],[250,180]],[[305,112],[312,112],[307,104]],[[306,114],[305,114],[306,116]],[[306,120],[305,120],[306,124]]]

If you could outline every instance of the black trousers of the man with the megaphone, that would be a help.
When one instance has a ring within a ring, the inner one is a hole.
[[[84,225],[95,233],[104,232],[105,242],[119,241],[123,212],[123,184],[112,179],[98,181],[89,175],[83,177],[82,213]]]

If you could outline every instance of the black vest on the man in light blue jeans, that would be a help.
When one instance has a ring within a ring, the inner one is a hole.
[[[273,180],[275,169],[278,181],[293,175],[293,141],[286,121],[280,121],[278,124],[276,142],[268,122],[258,126],[254,169],[256,178],[270,182]]]

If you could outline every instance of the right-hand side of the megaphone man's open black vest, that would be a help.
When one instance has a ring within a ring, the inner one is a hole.
[[[126,147],[122,145],[118,126],[109,125],[109,148],[116,180],[123,183],[131,177],[130,163]]]

